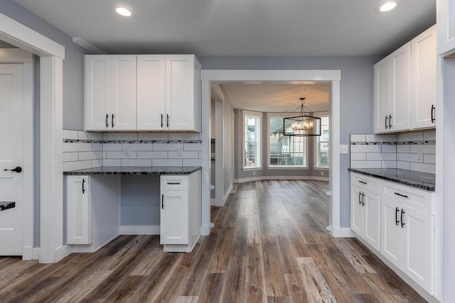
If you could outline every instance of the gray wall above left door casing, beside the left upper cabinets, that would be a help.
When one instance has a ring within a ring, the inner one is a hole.
[[[73,39],[12,0],[0,1],[0,12],[65,47],[63,61],[63,129],[84,129],[84,55]]]

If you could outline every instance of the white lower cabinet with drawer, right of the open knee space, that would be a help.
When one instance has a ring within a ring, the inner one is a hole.
[[[200,171],[161,175],[160,243],[165,251],[189,252],[200,236]]]

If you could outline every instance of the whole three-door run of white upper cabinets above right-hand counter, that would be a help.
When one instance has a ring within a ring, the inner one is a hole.
[[[434,128],[436,26],[373,67],[375,133]]]

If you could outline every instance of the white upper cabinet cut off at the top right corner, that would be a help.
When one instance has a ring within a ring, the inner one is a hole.
[[[437,1],[438,55],[455,51],[455,0]]]

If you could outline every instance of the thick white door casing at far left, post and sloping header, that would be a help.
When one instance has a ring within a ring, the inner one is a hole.
[[[68,255],[63,246],[63,45],[0,13],[0,39],[40,56],[40,248],[32,258],[55,263]],[[31,200],[33,205],[35,199]],[[27,214],[28,225],[34,221]],[[30,231],[30,226],[28,226]],[[33,238],[33,233],[27,237]],[[28,241],[30,241],[28,238]],[[30,257],[30,253],[26,253]]]

